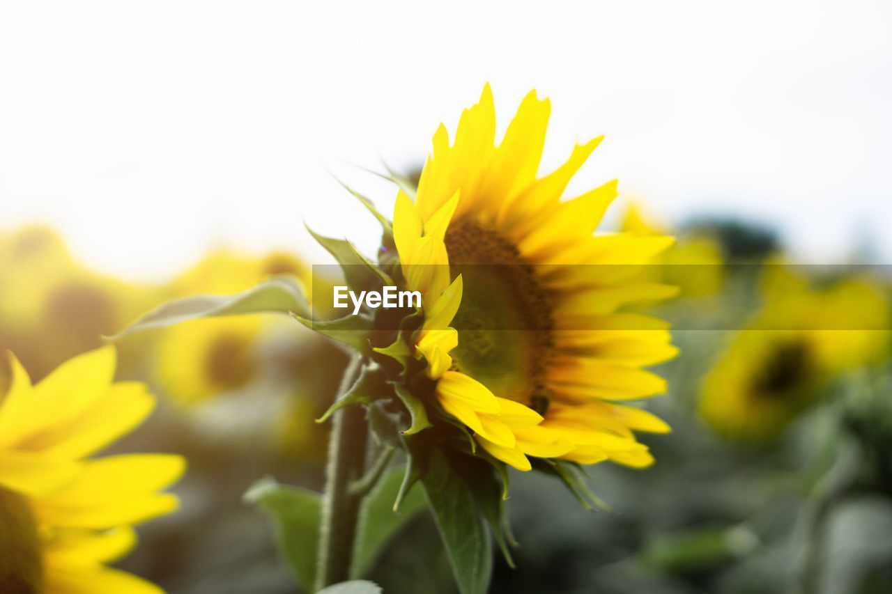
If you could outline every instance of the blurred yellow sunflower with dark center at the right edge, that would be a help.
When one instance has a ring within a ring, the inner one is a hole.
[[[706,376],[699,413],[742,441],[779,435],[839,374],[888,354],[888,306],[869,282],[813,291],[770,268],[767,304]]]

